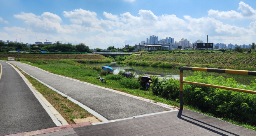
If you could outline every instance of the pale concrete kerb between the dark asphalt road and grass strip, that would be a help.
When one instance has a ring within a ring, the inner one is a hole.
[[[5,61],[6,62],[6,61]],[[8,63],[8,62],[6,62]],[[10,63],[8,63],[9,65],[11,65]],[[11,65],[12,66],[12,65]],[[46,110],[47,114],[51,117],[51,119],[53,120],[54,124],[58,127],[58,126],[63,126],[61,124],[61,122],[54,116],[54,114],[51,112],[51,110],[47,107],[47,105],[43,102],[42,99],[40,99],[39,95],[37,95],[37,93],[33,90],[33,88],[29,85],[29,83],[25,80],[25,76],[23,74],[21,74],[21,72],[15,68],[14,66],[12,66],[12,68],[14,68],[14,70],[16,70],[19,75],[21,76],[21,78],[25,81],[26,85],[28,86],[28,88],[30,88],[30,90],[32,91],[32,93],[35,95],[35,97],[37,98],[37,100],[40,102],[40,104],[42,105],[42,107]]]

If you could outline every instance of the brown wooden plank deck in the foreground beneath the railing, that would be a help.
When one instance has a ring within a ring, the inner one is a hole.
[[[84,126],[40,136],[256,136],[246,129],[191,110]]]

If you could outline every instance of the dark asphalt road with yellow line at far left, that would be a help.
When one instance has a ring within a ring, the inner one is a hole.
[[[0,135],[56,127],[18,72],[6,62],[0,64]]]

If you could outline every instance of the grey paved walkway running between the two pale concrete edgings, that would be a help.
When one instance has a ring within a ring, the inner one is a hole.
[[[24,63],[16,61],[10,63],[18,66],[26,73],[34,76],[72,99],[86,105],[107,120],[123,119],[170,110],[151,102],[112,92],[108,88],[77,82],[70,78],[54,75]]]

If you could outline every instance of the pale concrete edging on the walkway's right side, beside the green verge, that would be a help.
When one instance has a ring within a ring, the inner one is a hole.
[[[23,63],[23,64],[26,64],[26,63]],[[28,65],[28,64],[26,64]],[[28,65],[28,66],[31,66],[31,65]],[[39,70],[42,70],[41,68],[38,68],[36,66],[32,66],[34,68],[37,68]],[[54,73],[50,73],[49,71],[46,71],[46,70],[42,70],[46,73],[49,73],[51,75],[55,75],[55,76],[59,76],[59,77],[62,77],[62,78],[67,78],[67,79],[70,79],[70,80],[73,80],[73,81],[76,81],[76,82],[80,82],[80,83],[84,83],[84,84],[87,84],[87,85],[91,85],[93,87],[98,87],[98,88],[102,88],[104,90],[108,90],[108,91],[111,91],[111,92],[115,92],[115,93],[119,93],[119,94],[122,94],[122,95],[126,95],[128,97],[132,97],[132,98],[135,98],[135,99],[139,99],[139,100],[143,100],[143,101],[146,101],[146,102],[150,102],[152,104],[156,104],[156,105],[159,105],[159,106],[162,106],[162,107],[165,107],[165,108],[168,108],[170,110],[174,110],[174,106],[172,105],[167,105],[167,104],[163,104],[161,102],[154,102],[154,100],[149,100],[149,99],[146,99],[146,98],[142,98],[142,97],[138,97],[138,96],[135,96],[135,95],[131,95],[131,94],[128,94],[128,93],[124,93],[124,92],[120,92],[120,91],[117,91],[117,90],[113,90],[113,89],[110,89],[110,88],[105,88],[105,87],[101,87],[101,86],[98,86],[98,85],[94,85],[94,84],[91,84],[91,83],[87,83],[87,82],[83,82],[83,81],[80,81],[80,80],[76,80],[76,79],[73,79],[73,78],[70,78],[70,77],[66,77],[66,76],[62,76],[62,75],[57,75],[57,74],[54,74]],[[64,94],[64,93],[63,93]],[[66,95],[66,94],[64,94]]]

